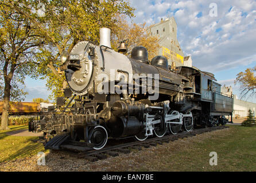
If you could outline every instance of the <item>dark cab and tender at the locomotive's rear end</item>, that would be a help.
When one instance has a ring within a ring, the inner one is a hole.
[[[177,73],[189,79],[184,82],[184,94],[189,97],[187,105],[195,106],[195,124],[203,127],[226,124],[223,116],[232,118],[232,96],[220,93],[220,84],[214,74],[200,71],[195,67],[177,67]],[[186,106],[181,108],[185,110]],[[231,119],[232,121],[232,119]]]

